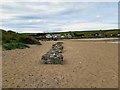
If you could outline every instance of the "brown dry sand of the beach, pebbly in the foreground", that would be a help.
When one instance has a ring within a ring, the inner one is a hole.
[[[118,44],[65,40],[64,65],[42,65],[53,41],[3,51],[3,88],[117,88]]]

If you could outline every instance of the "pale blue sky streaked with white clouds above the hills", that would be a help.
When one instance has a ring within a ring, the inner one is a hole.
[[[19,33],[118,28],[118,2],[4,2],[0,11],[0,28]]]

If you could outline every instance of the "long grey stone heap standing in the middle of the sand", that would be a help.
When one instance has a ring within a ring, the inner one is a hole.
[[[63,42],[57,42],[52,48],[42,56],[42,64],[63,64]]]

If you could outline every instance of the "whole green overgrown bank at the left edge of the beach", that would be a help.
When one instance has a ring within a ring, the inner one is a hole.
[[[0,37],[0,44],[4,50],[12,50],[12,49],[24,49],[29,47],[27,44],[36,44],[41,45],[41,43],[32,36],[26,34],[19,34],[14,31],[5,31],[0,29],[2,32],[2,37]]]

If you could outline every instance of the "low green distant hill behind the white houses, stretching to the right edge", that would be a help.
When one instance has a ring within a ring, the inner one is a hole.
[[[116,38],[120,37],[120,29],[110,29],[110,30],[92,30],[92,31],[67,31],[67,32],[50,32],[50,33],[24,33],[25,35],[33,36],[39,38],[46,34],[60,34],[72,35],[72,38]]]

